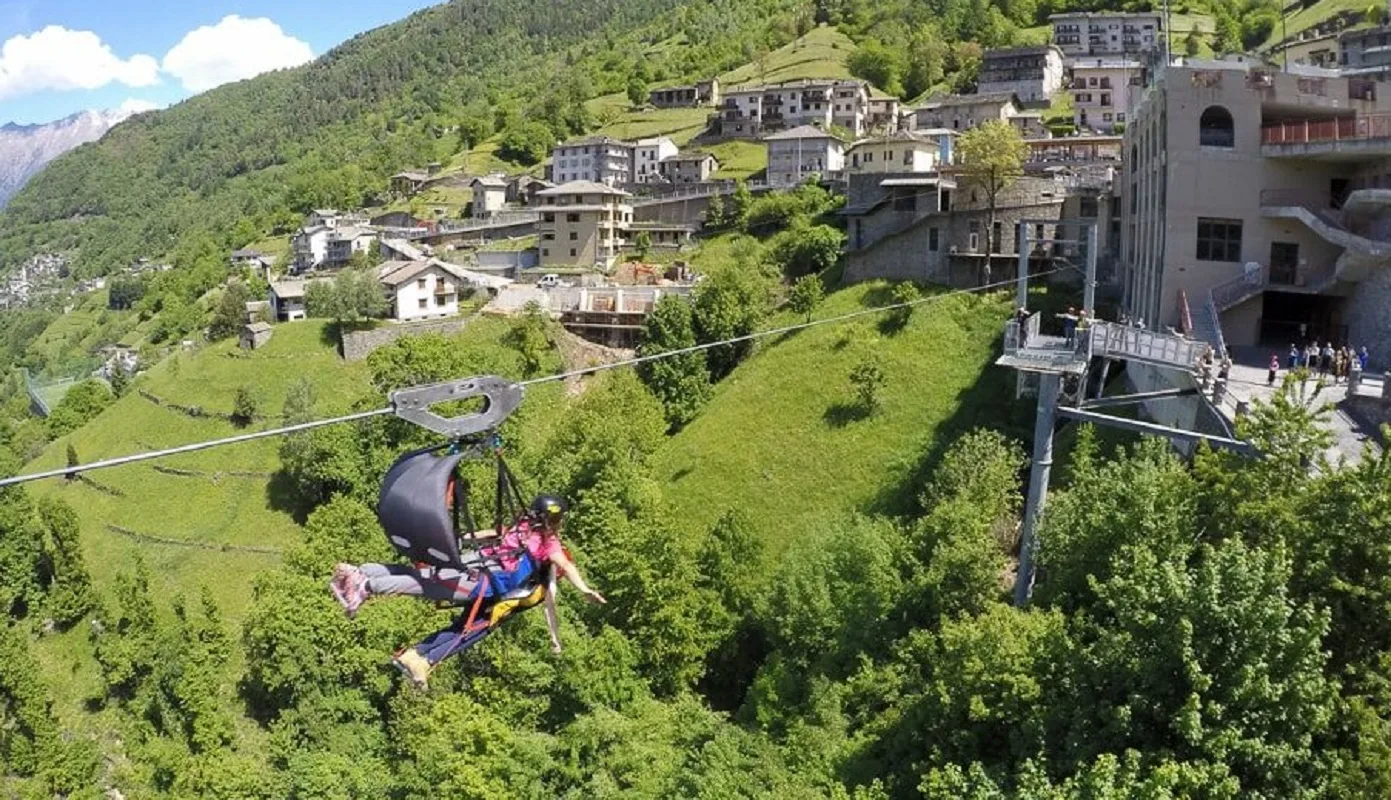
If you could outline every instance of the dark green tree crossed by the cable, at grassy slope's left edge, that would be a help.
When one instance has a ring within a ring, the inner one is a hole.
[[[696,346],[691,303],[684,298],[664,296],[657,301],[643,328],[640,356],[651,356]],[[696,419],[709,399],[709,366],[702,352],[669,356],[638,365],[647,388],[662,402],[666,422],[679,429]]]

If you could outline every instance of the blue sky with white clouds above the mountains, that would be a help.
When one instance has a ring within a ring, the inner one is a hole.
[[[167,106],[321,56],[430,0],[0,0],[0,124]]]

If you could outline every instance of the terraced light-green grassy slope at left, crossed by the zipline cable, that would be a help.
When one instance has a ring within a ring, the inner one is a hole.
[[[139,391],[51,442],[26,469],[63,466],[68,444],[81,461],[92,462],[242,433],[221,419],[195,419],[156,405],[142,391],[166,402],[228,413],[236,390],[245,385],[267,415],[250,430],[278,424],[285,391],[299,377],[313,384],[316,412],[324,415],[346,410],[345,398],[367,388],[366,367],[342,362],[321,323],[281,324],[259,351],[241,351],[235,341],[225,341],[166,359],[136,384]],[[275,452],[277,442],[256,441],[90,473],[88,477],[99,486],[42,481],[33,484],[33,491],[63,497],[78,511],[88,563],[102,565],[93,570],[99,587],[106,589],[114,573],[129,568],[139,554],[163,591],[196,591],[206,584],[228,618],[239,619],[249,600],[245,576],[274,563],[277,557],[207,547],[280,548],[292,540],[295,520],[288,511],[275,508],[270,490],[268,476],[280,466]],[[107,526],[189,545],[138,543]]]

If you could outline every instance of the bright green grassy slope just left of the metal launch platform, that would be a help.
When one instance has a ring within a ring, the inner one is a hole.
[[[887,289],[835,292],[817,314],[886,303]],[[1028,409],[1007,402],[1014,376],[990,366],[1008,310],[1004,294],[953,296],[918,306],[896,333],[869,316],[766,342],[658,456],[682,525],[702,530],[740,508],[776,551],[828,513],[910,508],[953,435],[1027,422]],[[847,376],[871,353],[883,405],[861,419]]]

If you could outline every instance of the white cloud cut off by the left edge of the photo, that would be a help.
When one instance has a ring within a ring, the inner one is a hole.
[[[90,31],[49,25],[29,36],[11,36],[0,46],[0,100],[35,92],[100,89],[117,82],[153,86],[159,63],[138,54],[118,58]]]

